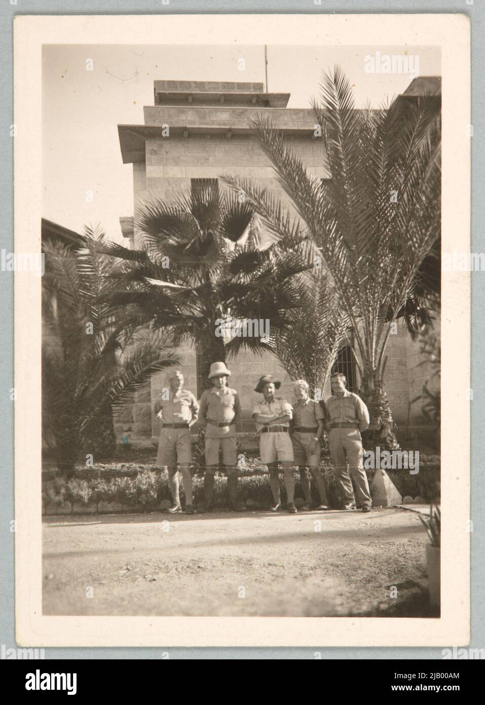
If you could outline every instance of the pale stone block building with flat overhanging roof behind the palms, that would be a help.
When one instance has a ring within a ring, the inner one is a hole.
[[[439,85],[437,78],[418,78],[404,95],[439,94]],[[314,137],[314,114],[310,109],[287,108],[289,97],[288,93],[264,92],[262,83],[156,80],[154,105],[145,106],[144,124],[118,125],[123,163],[133,164],[135,209],[140,200],[171,200],[181,190],[190,192],[208,183],[222,189],[219,177],[223,173],[254,180],[292,209],[250,127],[254,111],[269,115],[284,130],[295,154],[315,176],[329,179],[331,173],[326,168],[324,144]],[[123,216],[120,222],[130,246],[136,247],[141,235],[133,227],[133,216]],[[398,426],[403,429],[410,416],[410,400],[420,393],[429,370],[419,365],[419,348],[402,321],[397,334],[390,338],[388,353],[386,392]],[[203,381],[197,376],[197,351],[185,348],[180,355],[185,386],[199,397]],[[347,374],[348,386],[355,388],[357,372],[348,346],[340,350],[338,357],[338,368]],[[228,360],[228,367],[232,372],[230,384],[240,393],[245,410],[241,432],[254,431],[250,417],[258,397],[254,386],[264,372],[281,379],[281,394],[293,398],[290,377],[270,354],[239,353]],[[128,436],[132,441],[158,436],[159,424],[152,407],[166,386],[164,374],[152,377],[149,388],[137,393],[134,404],[118,417],[119,436]],[[326,390],[325,397],[329,394]],[[418,410],[419,405],[412,407],[412,412]],[[419,423],[416,413],[410,417]]]

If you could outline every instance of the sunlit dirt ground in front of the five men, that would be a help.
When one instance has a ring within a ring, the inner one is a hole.
[[[426,541],[391,508],[47,517],[44,614],[431,616]]]

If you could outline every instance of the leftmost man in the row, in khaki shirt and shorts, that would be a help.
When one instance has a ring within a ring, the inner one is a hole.
[[[185,513],[193,514],[190,427],[197,421],[199,405],[192,392],[183,389],[183,374],[179,370],[171,372],[168,381],[169,398],[164,399],[162,394],[155,403],[155,413],[162,424],[156,464],[159,467],[168,467],[168,485],[173,501],[168,511],[173,514],[182,511],[177,472],[177,465],[180,465],[185,491]]]

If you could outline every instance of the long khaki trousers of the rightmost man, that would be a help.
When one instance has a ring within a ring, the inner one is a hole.
[[[357,489],[357,499],[362,506],[371,506],[369,482],[364,470],[364,450],[357,429],[336,428],[329,431],[330,455],[343,491],[345,504],[355,502],[352,479]],[[350,479],[350,474],[352,479]]]

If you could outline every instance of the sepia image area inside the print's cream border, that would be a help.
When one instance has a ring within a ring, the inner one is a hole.
[[[438,617],[435,47],[44,46],[46,615]]]

